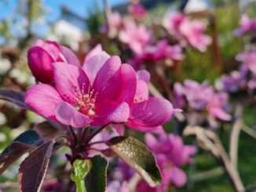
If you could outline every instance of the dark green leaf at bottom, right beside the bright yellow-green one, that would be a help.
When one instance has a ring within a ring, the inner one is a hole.
[[[88,192],[104,192],[107,185],[108,161],[101,155],[90,160],[90,172],[86,175],[86,190]]]

